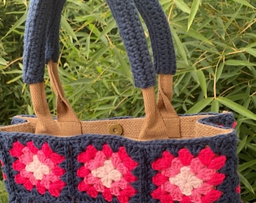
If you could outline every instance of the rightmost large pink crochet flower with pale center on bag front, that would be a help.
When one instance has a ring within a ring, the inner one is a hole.
[[[225,178],[219,173],[225,162],[225,156],[216,155],[209,147],[201,150],[197,157],[187,149],[179,150],[178,157],[164,151],[163,156],[152,163],[158,173],[153,177],[157,189],[151,195],[163,203],[216,201],[222,195],[216,186]]]

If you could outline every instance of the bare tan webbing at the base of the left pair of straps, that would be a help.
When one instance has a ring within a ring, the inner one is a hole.
[[[32,103],[38,123],[35,128],[37,134],[56,136],[69,136],[82,134],[81,122],[67,101],[59,80],[57,64],[50,61],[47,65],[50,75],[50,83],[56,95],[57,120],[50,115],[44,83],[30,84]]]

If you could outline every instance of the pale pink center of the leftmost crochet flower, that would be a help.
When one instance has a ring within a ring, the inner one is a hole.
[[[44,175],[51,172],[47,165],[39,161],[37,155],[34,155],[32,162],[26,165],[26,171],[32,172],[36,180],[42,180]]]

